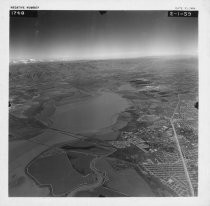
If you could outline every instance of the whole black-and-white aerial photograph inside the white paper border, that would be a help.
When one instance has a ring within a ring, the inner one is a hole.
[[[198,196],[198,18],[10,16],[9,197]]]

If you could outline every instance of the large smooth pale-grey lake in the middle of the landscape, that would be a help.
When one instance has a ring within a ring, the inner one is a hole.
[[[81,102],[60,106],[52,116],[53,127],[75,133],[96,132],[114,124],[130,103],[120,95],[103,92]]]

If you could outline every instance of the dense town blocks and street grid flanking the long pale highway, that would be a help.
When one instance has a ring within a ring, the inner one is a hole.
[[[189,105],[180,107],[184,112],[185,118],[180,116],[179,111],[174,116],[174,125],[182,149],[184,159],[187,164],[190,179],[194,190],[198,186],[198,175],[196,164],[198,161],[197,153],[197,131],[191,124],[185,121],[189,116]],[[190,111],[192,110],[190,105]],[[195,111],[196,112],[196,111]],[[139,120],[139,119],[138,119]],[[196,117],[194,117],[196,121]],[[181,131],[179,133],[179,131]],[[182,134],[183,133],[183,134]],[[189,184],[186,179],[180,154],[174,140],[174,131],[171,127],[169,118],[160,118],[154,121],[152,125],[137,128],[135,131],[124,131],[121,133],[119,140],[110,141],[115,148],[128,148],[135,145],[146,155],[145,158],[138,160],[138,165],[142,168],[145,175],[152,175],[159,181],[170,188],[177,196],[190,196]]]

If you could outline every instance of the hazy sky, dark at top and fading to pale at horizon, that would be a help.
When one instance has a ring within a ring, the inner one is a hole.
[[[198,19],[167,11],[39,11],[10,18],[10,59],[97,59],[197,53]]]

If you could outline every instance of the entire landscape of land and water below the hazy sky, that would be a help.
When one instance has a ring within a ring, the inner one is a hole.
[[[196,57],[11,64],[9,81],[9,196],[197,196]]]

